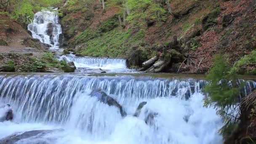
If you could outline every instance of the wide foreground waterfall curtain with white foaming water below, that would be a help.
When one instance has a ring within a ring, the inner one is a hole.
[[[11,104],[14,122],[0,123],[0,138],[36,129],[57,129],[22,142],[31,144],[221,144],[221,118],[203,107],[205,80],[134,76],[13,75],[0,76],[0,99]],[[256,87],[247,81],[245,90]],[[128,113],[89,96],[100,88]],[[139,117],[133,114],[147,101]],[[145,123],[156,112],[153,124]],[[187,117],[187,118],[186,118]],[[186,120],[187,119],[187,120]],[[15,123],[18,122],[18,123]],[[22,144],[24,144],[22,143]]]

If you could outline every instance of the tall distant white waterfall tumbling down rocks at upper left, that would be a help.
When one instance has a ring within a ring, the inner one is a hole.
[[[63,43],[63,34],[59,24],[58,13],[43,10],[35,13],[32,24],[28,25],[28,30],[32,32],[32,37],[37,38],[42,43],[50,45],[50,50],[57,50]]]

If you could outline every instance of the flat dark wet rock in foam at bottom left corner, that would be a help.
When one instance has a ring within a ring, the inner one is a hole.
[[[27,131],[24,133],[16,133],[11,136],[8,136],[0,140],[0,144],[32,144],[31,139],[33,138],[33,144],[53,144],[54,142],[49,139],[42,139],[43,136],[56,132],[63,131],[62,129],[58,130],[36,130],[36,131]]]

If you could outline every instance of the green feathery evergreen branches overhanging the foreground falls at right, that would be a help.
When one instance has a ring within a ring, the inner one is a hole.
[[[224,136],[230,134],[239,121],[236,106],[239,106],[240,99],[237,98],[243,83],[237,85],[237,72],[246,64],[256,64],[256,51],[244,56],[234,65],[230,65],[227,56],[217,55],[206,76],[209,83],[205,85],[204,91],[209,96],[205,98],[205,106],[215,107],[217,114],[223,118],[225,125],[220,132]]]

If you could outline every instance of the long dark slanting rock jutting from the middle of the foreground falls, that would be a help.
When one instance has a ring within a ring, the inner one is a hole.
[[[123,110],[123,107],[111,96],[108,96],[107,93],[105,93],[104,91],[101,91],[100,89],[95,89],[91,92],[91,96],[96,96],[99,101],[104,104],[117,107],[120,110],[120,114],[122,117],[125,117],[127,115],[125,110]]]

